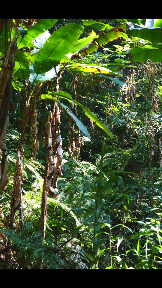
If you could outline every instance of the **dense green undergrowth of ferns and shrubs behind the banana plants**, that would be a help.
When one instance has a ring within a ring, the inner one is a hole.
[[[73,19],[69,20],[73,22]],[[111,25],[118,24],[115,19],[106,20]],[[161,269],[162,66],[161,62],[151,60],[133,62],[129,54],[132,47],[148,43],[145,42],[139,38],[126,41],[121,38],[107,44],[104,50],[100,47],[99,51],[77,60],[77,63],[100,64],[112,71],[114,68],[119,76],[117,81],[128,80],[134,85],[136,97],[131,101],[125,96],[125,85],[115,82],[116,78],[112,82],[106,74],[75,73],[78,101],[88,107],[114,136],[107,138],[105,132],[77,106],[77,117],[89,131],[91,139],[81,132],[80,155],[77,160],[69,162],[68,119],[61,110],[63,176],[58,177],[57,197],[47,196],[45,238],[40,231],[40,219],[46,148],[40,142],[38,159],[31,157],[30,122],[25,134],[23,161],[24,227],[17,233],[17,211],[14,229],[8,229],[22,119],[17,91],[13,91],[14,111],[10,113],[7,131],[9,183],[0,195],[1,269]],[[129,72],[134,73],[134,79],[129,77]],[[17,81],[23,85],[20,79]],[[72,82],[72,75],[62,73],[59,88],[74,98]],[[54,85],[54,81],[48,82],[42,88],[42,94],[53,91]],[[69,104],[65,99],[61,101]],[[37,107],[39,136],[42,115],[44,131],[51,109],[50,101],[40,103]],[[155,104],[158,105],[156,109]],[[46,105],[48,111],[44,109]],[[76,124],[74,131],[77,138]],[[152,137],[153,134],[156,137]],[[149,164],[151,161],[152,165]],[[10,239],[12,252],[9,259],[7,241]]]

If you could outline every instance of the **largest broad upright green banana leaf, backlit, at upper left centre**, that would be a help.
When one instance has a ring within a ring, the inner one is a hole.
[[[69,23],[54,32],[35,60],[35,73],[44,73],[56,66],[73,48],[83,29],[81,25]]]

